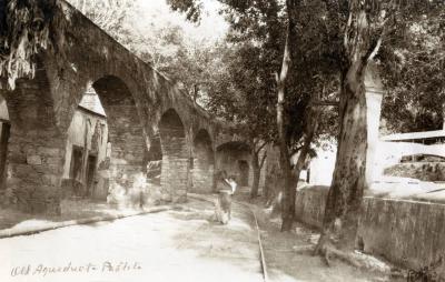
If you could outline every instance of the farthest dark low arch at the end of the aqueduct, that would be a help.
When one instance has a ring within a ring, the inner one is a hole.
[[[216,150],[216,160],[218,170],[235,177],[239,185],[248,185],[253,182],[251,154],[247,143],[230,141],[220,144]]]

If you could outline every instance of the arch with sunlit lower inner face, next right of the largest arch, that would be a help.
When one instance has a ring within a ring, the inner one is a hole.
[[[184,123],[174,109],[162,114],[159,135],[162,151],[162,200],[182,202],[187,198],[189,152]]]

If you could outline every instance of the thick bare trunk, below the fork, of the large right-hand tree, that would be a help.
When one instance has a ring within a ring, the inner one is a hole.
[[[333,183],[328,192],[317,251],[353,250],[365,182],[367,131],[366,62],[357,60],[342,78],[340,132]]]

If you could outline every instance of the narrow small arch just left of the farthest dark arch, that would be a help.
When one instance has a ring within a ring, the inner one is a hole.
[[[191,179],[194,193],[211,193],[215,190],[215,154],[207,130],[199,130],[194,140]]]

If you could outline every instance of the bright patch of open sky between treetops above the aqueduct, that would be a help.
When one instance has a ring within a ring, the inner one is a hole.
[[[180,26],[185,31],[186,38],[212,42],[222,38],[228,29],[228,23],[218,13],[221,4],[216,0],[202,0],[204,12],[199,26],[188,22],[184,14],[174,12],[166,0],[136,1],[141,8],[140,12],[147,17],[147,21],[139,24],[164,24],[165,22],[170,22]]]

